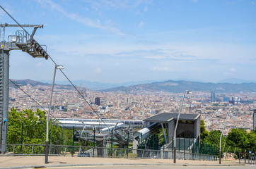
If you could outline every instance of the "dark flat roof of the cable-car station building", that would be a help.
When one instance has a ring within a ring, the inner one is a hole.
[[[197,120],[199,118],[199,114],[182,114],[180,113],[179,120]],[[150,118],[144,119],[146,122],[153,122],[153,123],[168,123],[171,120],[177,120],[178,113],[159,113],[157,115],[153,115]]]

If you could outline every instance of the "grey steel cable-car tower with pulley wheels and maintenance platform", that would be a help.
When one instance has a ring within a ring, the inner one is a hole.
[[[6,41],[6,27],[34,27],[31,35],[25,30],[17,30],[15,35],[9,35]],[[8,130],[8,80],[9,80],[9,52],[11,50],[25,51],[33,58],[46,58],[48,54],[45,49],[38,44],[33,36],[37,28],[43,25],[9,25],[7,23],[0,24],[0,152],[6,152],[7,130]]]

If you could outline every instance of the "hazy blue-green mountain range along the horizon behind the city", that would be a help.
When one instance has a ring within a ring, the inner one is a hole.
[[[27,85],[30,84],[31,86],[36,85],[47,85],[51,86],[51,83],[45,82],[37,82],[34,80],[13,80],[19,85]],[[191,82],[186,80],[167,80],[164,82],[152,82],[154,80],[149,81],[141,81],[141,82],[127,82],[120,84],[107,84],[107,83],[99,83],[99,82],[90,82],[90,84],[86,86],[88,89],[100,89],[101,92],[184,92],[185,90],[191,91],[202,91],[202,92],[209,92],[213,89],[216,92],[256,92],[256,83],[255,82],[244,82],[240,84],[233,84],[233,83],[211,83],[211,82]],[[62,84],[58,84],[56,82],[56,86],[58,88],[63,89],[74,89],[70,84],[63,84],[65,81],[62,81]],[[83,82],[83,83],[82,83]],[[73,83],[76,86],[80,86],[80,84],[85,84],[83,80],[76,80]],[[66,83],[66,82],[65,82]],[[139,84],[141,83],[141,84]],[[93,87],[93,84],[95,86]],[[100,85],[102,84],[102,85]],[[126,86],[124,86],[124,84]],[[131,85],[129,85],[131,84]],[[10,85],[13,84],[10,82]],[[120,85],[120,86],[118,86]],[[115,87],[112,87],[115,86]],[[82,86],[84,87],[84,85]],[[110,87],[109,89],[104,89],[105,87]],[[103,88],[103,89],[102,89]]]

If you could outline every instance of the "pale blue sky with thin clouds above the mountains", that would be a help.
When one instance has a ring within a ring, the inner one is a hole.
[[[71,80],[256,80],[256,0],[0,0]],[[1,23],[14,24],[0,11]],[[6,36],[20,28],[6,28]],[[31,28],[26,28],[32,32]],[[11,51],[10,78],[52,80],[54,64]],[[65,80],[60,73],[57,80]]]

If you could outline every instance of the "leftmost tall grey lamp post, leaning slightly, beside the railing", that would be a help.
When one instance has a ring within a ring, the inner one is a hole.
[[[53,94],[53,88],[54,88],[54,82],[55,82],[55,75],[57,69],[64,69],[63,65],[55,65],[54,68],[54,75],[52,80],[52,92],[51,92],[51,98],[50,98],[50,105],[49,110],[47,113],[47,120],[46,120],[46,142],[45,142],[45,163],[48,163],[48,152],[49,152],[49,140],[48,140],[48,133],[49,133],[49,120],[50,120],[50,111],[52,107],[52,94]]]

